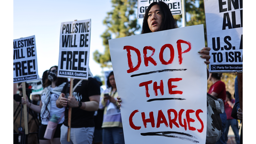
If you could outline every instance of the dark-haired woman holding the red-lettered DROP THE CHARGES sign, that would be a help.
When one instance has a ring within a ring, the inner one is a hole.
[[[177,25],[167,4],[162,1],[151,3],[144,15],[141,34],[169,30],[174,28],[177,28]],[[198,51],[198,53],[202,54],[200,55],[200,57],[206,59],[206,61],[204,61],[205,64],[210,63],[210,50],[211,48],[205,47]],[[208,77],[209,71],[207,69],[207,78]],[[121,104],[119,103],[122,101],[121,98],[117,97],[117,99],[118,105],[121,106]]]

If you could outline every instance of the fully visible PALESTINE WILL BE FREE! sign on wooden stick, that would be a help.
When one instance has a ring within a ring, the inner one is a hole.
[[[58,77],[88,79],[91,19],[62,22]]]

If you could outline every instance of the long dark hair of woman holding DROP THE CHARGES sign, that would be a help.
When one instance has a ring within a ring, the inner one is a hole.
[[[172,16],[171,10],[169,9],[166,3],[159,1],[159,2],[153,2],[148,6],[143,19],[141,34],[151,33],[151,30],[148,27],[148,12],[151,9],[151,7],[154,5],[158,5],[158,8],[161,13],[161,17],[162,17],[162,22],[158,31],[177,28],[176,21]]]

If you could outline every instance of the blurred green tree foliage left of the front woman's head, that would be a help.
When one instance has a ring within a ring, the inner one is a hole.
[[[140,28],[135,15],[137,0],[112,0],[111,3],[114,9],[107,13],[108,16],[103,21],[107,29],[101,35],[105,51],[103,54],[98,50],[93,53],[93,59],[100,63],[101,67],[106,67],[107,63],[111,62],[108,40],[112,37],[134,35],[134,32]]]

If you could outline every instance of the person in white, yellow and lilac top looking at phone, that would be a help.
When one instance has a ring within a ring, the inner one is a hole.
[[[103,116],[103,143],[124,144],[124,133],[121,119],[121,112],[117,102],[117,89],[113,71],[107,79],[107,88],[101,93],[100,109],[104,108]]]

